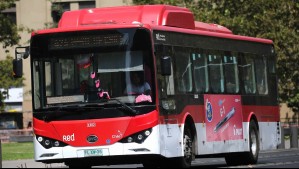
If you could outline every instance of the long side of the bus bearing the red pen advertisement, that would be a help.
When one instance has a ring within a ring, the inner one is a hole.
[[[173,106],[168,111],[161,109],[160,112],[163,119],[160,129],[161,133],[165,133],[161,145],[161,150],[165,150],[163,155],[173,157],[180,154],[178,149],[182,146],[179,143],[184,131],[180,125],[185,125],[187,114],[195,125],[196,155],[250,151],[250,123],[254,123],[258,130],[257,145],[260,150],[275,149],[280,144],[276,73],[275,68],[271,67],[275,56],[270,44],[167,31],[154,33],[157,72],[159,57],[170,56],[173,64],[171,76],[158,76],[160,104]],[[157,38],[160,36],[164,37],[163,40]],[[206,63],[198,62],[196,67],[196,59],[203,57],[207,58]],[[222,61],[213,65],[212,60],[217,57]],[[252,61],[250,64],[247,58]],[[219,87],[220,91],[216,92],[211,90],[210,73],[213,69],[210,67],[219,66],[217,64],[221,65],[217,68],[220,71],[225,71],[229,64],[235,64],[238,88],[230,91],[224,85],[229,75],[224,72],[221,74],[223,81],[219,82],[224,87]],[[253,74],[254,82],[254,90],[250,92],[245,88],[245,73],[248,71],[245,68],[248,65],[251,65],[248,70]],[[206,77],[201,76],[200,72],[196,77],[195,70],[199,69],[203,69]],[[199,82],[201,80],[206,82]],[[266,90],[258,89],[259,81],[264,82]],[[203,83],[206,83],[205,86],[200,86]]]

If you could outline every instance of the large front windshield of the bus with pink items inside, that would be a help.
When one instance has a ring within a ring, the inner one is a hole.
[[[34,108],[153,104],[153,57],[144,29],[37,35],[31,41]]]

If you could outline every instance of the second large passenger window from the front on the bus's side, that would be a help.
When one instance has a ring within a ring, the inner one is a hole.
[[[195,90],[199,93],[206,93],[209,91],[207,57],[202,53],[193,53],[192,59],[194,64]]]

